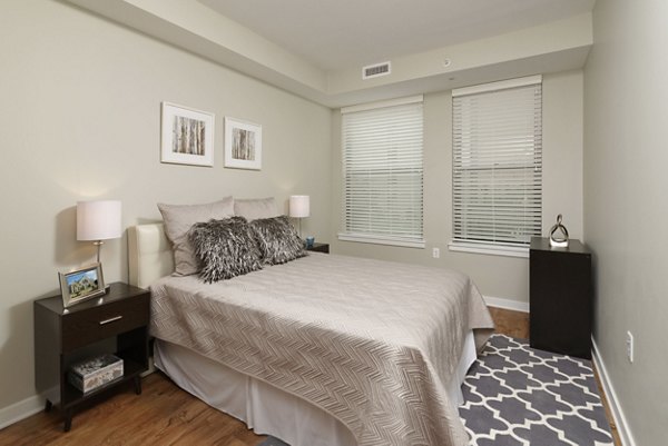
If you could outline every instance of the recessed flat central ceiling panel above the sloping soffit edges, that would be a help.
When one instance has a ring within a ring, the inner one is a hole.
[[[198,0],[323,70],[590,12],[595,0]]]

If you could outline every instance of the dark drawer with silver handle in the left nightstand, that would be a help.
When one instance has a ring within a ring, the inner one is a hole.
[[[135,296],[62,318],[62,351],[148,325],[149,294]]]

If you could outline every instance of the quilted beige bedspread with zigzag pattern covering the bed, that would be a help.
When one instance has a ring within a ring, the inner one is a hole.
[[[466,444],[445,386],[466,331],[493,325],[464,275],[312,254],[151,291],[154,336],[308,400],[360,445]]]

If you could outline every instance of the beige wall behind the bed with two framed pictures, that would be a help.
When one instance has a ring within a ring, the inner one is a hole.
[[[328,109],[58,1],[3,1],[0,57],[0,418],[35,395],[32,300],[95,257],[77,200],[120,199],[128,227],[157,201],[308,194],[304,231],[331,234]],[[160,101],[216,113],[214,168],[159,162]],[[263,126],[262,171],[223,168],[225,116]],[[108,281],[126,244],[102,249]]]

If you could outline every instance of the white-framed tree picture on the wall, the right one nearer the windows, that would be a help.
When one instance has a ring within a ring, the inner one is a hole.
[[[262,169],[262,126],[225,118],[225,167]]]

